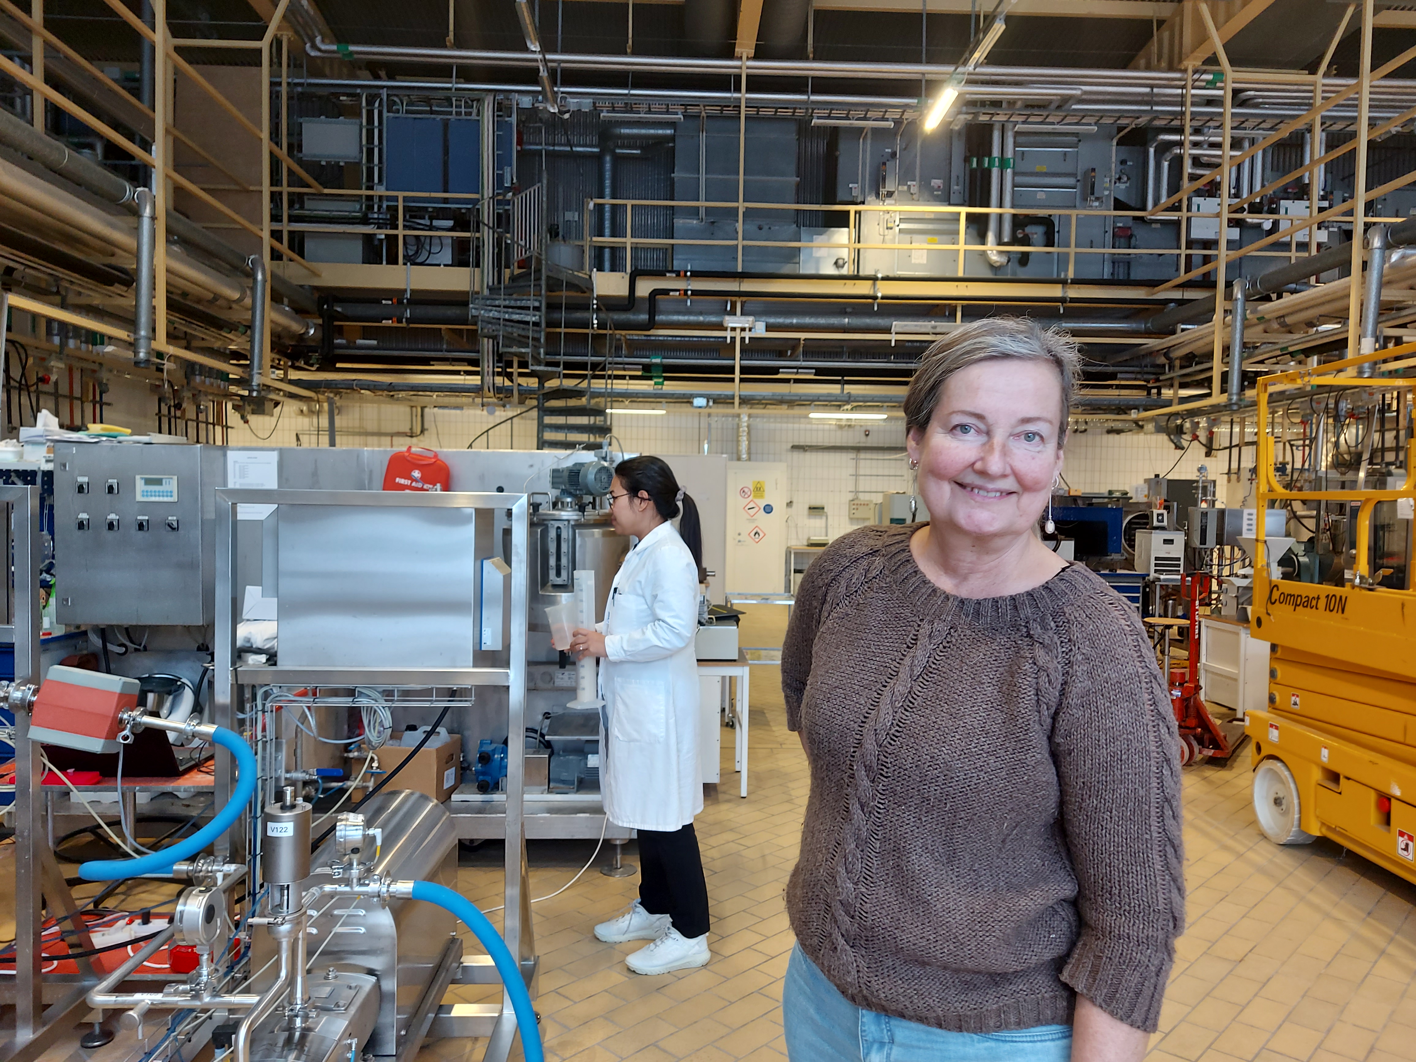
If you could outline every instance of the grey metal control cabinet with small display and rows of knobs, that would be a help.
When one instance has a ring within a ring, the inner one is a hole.
[[[187,624],[215,617],[212,489],[219,446],[55,443],[59,623]]]

